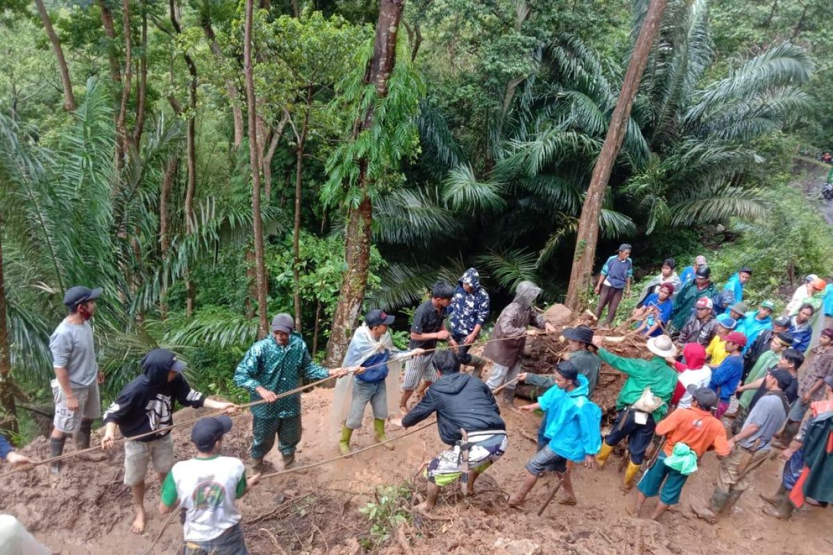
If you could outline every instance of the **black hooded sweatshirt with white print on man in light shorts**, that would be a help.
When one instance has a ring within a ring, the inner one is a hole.
[[[167,375],[168,369],[161,366],[145,369],[144,374],[124,386],[104,413],[104,422],[115,422],[129,438],[173,424],[173,399],[183,406],[202,407],[205,397],[191,389],[182,374],[177,374],[171,382],[167,381]],[[165,430],[138,441],[153,441],[170,433],[171,430]]]

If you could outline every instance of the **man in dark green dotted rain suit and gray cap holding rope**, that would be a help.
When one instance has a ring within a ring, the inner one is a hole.
[[[295,463],[295,448],[301,441],[301,394],[281,399],[277,395],[297,389],[304,379],[315,381],[346,374],[347,370],[329,370],[312,362],[291,315],[279,314],[272,319],[272,334],[253,344],[234,372],[234,383],[247,389],[252,401],[266,401],[252,407],[253,472],[262,469],[263,457],[274,447],[276,435],[283,467]]]

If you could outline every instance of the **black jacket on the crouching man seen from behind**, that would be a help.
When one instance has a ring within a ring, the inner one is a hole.
[[[481,379],[469,374],[446,374],[431,384],[425,397],[402,419],[406,428],[420,423],[436,410],[436,427],[444,444],[461,439],[460,429],[479,432],[506,429],[495,396]]]

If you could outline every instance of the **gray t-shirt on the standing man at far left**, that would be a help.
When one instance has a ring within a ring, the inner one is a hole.
[[[96,381],[98,364],[89,322],[77,325],[63,320],[49,338],[49,349],[52,366],[67,369],[72,387],[85,388]]]

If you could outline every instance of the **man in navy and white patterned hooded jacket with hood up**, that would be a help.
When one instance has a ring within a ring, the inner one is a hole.
[[[457,345],[457,358],[462,364],[474,367],[474,375],[480,378],[486,360],[469,354],[471,344],[477,340],[486,318],[489,317],[489,294],[480,285],[480,274],[469,268],[457,282],[451,305],[448,306],[449,343]]]

